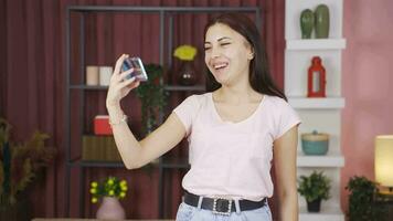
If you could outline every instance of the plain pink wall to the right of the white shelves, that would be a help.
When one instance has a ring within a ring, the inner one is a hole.
[[[343,2],[341,202],[347,211],[349,178],[374,180],[374,137],[393,134],[393,1]]]

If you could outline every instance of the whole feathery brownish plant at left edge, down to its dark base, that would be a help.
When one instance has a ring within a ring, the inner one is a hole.
[[[47,134],[36,130],[28,141],[12,139],[12,126],[0,118],[0,220],[30,220],[29,194],[44,175],[56,149]]]

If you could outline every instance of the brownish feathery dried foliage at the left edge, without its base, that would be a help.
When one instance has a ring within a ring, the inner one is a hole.
[[[53,147],[45,147],[49,135],[35,131],[26,143],[10,141],[11,125],[0,118],[0,204],[14,204],[18,194],[34,180],[38,172],[55,156]]]

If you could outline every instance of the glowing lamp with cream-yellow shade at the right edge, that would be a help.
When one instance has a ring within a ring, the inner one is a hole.
[[[393,135],[375,137],[375,181],[389,188],[380,193],[393,194]]]

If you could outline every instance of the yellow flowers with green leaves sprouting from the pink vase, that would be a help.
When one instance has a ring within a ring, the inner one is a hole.
[[[102,182],[91,182],[92,202],[96,203],[102,197],[124,199],[128,190],[127,181],[117,177],[108,177]]]

